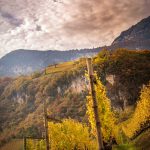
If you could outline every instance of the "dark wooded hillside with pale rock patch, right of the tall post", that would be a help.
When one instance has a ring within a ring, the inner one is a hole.
[[[104,50],[95,66],[113,106],[133,105],[150,79],[150,51]],[[104,57],[104,58],[103,58]]]

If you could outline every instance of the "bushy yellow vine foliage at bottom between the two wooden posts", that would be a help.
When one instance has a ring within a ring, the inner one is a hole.
[[[72,119],[62,123],[49,122],[49,137],[52,150],[96,149],[96,141],[91,139],[89,128]]]

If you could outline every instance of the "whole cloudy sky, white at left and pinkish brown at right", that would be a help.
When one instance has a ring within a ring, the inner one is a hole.
[[[0,0],[0,57],[110,45],[149,10],[150,0]]]

